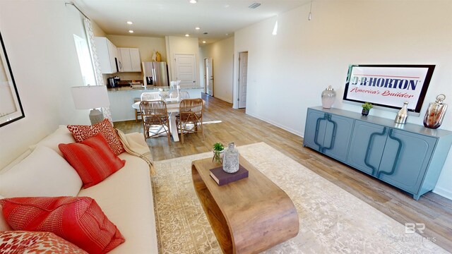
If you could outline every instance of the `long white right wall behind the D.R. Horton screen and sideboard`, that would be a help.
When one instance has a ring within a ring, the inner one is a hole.
[[[302,135],[307,107],[321,104],[328,85],[337,90],[333,107],[361,111],[342,102],[350,63],[436,64],[420,116],[428,103],[444,93],[452,98],[452,1],[314,1],[234,33],[234,80],[237,52],[248,50],[246,113]],[[268,103],[278,99],[278,103]],[[446,99],[446,102],[448,101]],[[237,82],[234,85],[237,101]],[[450,102],[449,102],[450,103]],[[372,109],[393,119],[395,111]],[[452,110],[441,128],[452,131]],[[452,152],[434,192],[452,199]]]

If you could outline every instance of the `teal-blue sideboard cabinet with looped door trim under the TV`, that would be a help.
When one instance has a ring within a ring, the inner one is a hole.
[[[452,145],[452,132],[342,109],[310,107],[303,145],[418,200],[435,187]]]

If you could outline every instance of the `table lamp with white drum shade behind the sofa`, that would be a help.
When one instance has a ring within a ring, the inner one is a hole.
[[[105,85],[71,87],[71,92],[76,109],[91,109],[90,120],[92,125],[100,123],[104,119],[102,112],[96,108],[110,105]]]

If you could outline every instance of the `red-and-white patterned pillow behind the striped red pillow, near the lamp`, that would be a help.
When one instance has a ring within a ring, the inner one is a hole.
[[[93,126],[69,125],[68,129],[71,131],[73,138],[77,142],[82,142],[87,138],[93,137],[93,135],[96,135],[97,133],[102,133],[115,155],[119,155],[121,152],[125,151],[121,140],[119,140],[118,133],[114,131],[112,123],[110,123],[108,119],[104,119],[104,121],[96,123]]]

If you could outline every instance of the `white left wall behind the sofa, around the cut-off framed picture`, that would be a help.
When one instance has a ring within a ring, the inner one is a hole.
[[[74,107],[70,87],[83,85],[73,34],[84,38],[81,16],[64,1],[0,1],[0,32],[25,118],[0,128],[0,168],[55,131],[89,123]]]

